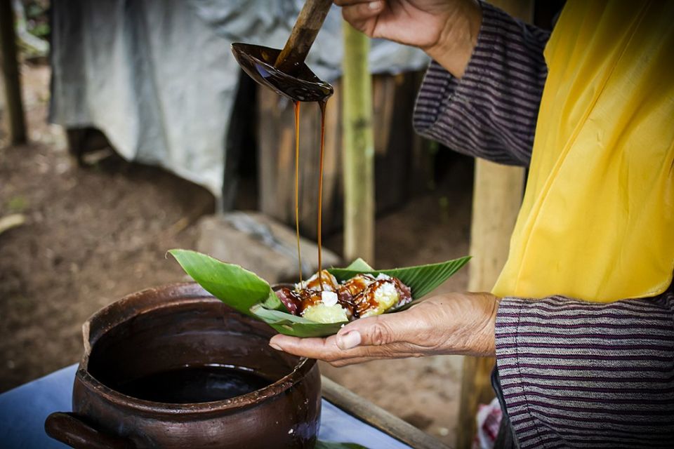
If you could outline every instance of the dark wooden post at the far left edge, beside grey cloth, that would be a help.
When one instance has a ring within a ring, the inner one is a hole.
[[[0,0],[0,68],[4,79],[5,105],[9,118],[9,142],[26,142],[26,125],[21,102],[21,81],[16,58],[14,11],[11,0]]]

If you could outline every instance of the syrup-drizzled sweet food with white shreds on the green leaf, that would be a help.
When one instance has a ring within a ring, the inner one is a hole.
[[[279,288],[276,295],[291,314],[317,323],[341,323],[381,315],[412,300],[411,289],[387,274],[358,274],[338,283],[327,270],[296,283],[293,288]]]

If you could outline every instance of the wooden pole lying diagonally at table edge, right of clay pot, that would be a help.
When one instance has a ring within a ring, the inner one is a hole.
[[[443,449],[446,445],[424,431],[417,429],[399,417],[391,415],[383,408],[345,389],[328,377],[322,376],[323,397],[351,416],[376,427],[385,434],[396,438],[416,449]]]

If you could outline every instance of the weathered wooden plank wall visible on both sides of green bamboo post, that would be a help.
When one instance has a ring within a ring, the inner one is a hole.
[[[374,184],[376,213],[399,207],[409,196],[428,189],[432,180],[430,141],[411,129],[414,100],[423,72],[396,76],[373,76]],[[325,124],[323,190],[324,235],[342,229],[343,177],[341,81],[333,83],[335,95],[329,100]],[[295,152],[292,103],[261,87],[257,93],[256,136],[260,210],[294,226],[292,182]],[[319,111],[315,104],[300,110],[300,232],[316,237],[317,163]],[[289,165],[288,165],[289,164]],[[289,203],[290,201],[290,203]],[[290,206],[288,206],[290,204]]]

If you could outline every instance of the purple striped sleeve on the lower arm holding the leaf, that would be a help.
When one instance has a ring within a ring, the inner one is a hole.
[[[521,448],[674,441],[674,293],[610,304],[504,298],[496,366]]]

